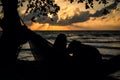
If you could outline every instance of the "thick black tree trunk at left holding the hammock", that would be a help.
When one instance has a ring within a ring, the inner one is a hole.
[[[16,52],[20,45],[21,23],[17,12],[17,0],[2,0],[4,18],[0,38],[1,73],[6,78],[15,78]]]

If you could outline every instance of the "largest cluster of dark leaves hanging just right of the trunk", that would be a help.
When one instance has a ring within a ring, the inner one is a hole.
[[[23,2],[25,1],[19,1],[18,5],[22,7]],[[31,18],[33,22],[36,21],[36,18],[40,18],[40,16],[48,16],[48,14],[55,16],[60,7],[54,2],[54,0],[28,0],[25,14],[35,13],[36,15]]]

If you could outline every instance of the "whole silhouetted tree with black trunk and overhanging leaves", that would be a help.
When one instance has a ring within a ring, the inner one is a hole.
[[[0,20],[0,26],[3,29],[2,37],[0,38],[0,59],[1,61],[9,61],[9,64],[13,64],[16,60],[16,53],[19,46],[29,39],[33,39],[35,33],[30,31],[25,25],[21,24],[21,20],[17,11],[19,6],[23,6],[23,2],[26,0],[1,0],[3,6],[4,17]],[[85,3],[86,9],[94,8],[93,0],[68,0],[70,3],[77,1],[78,3]],[[107,0],[95,0],[99,4],[106,5]],[[120,0],[115,0],[115,3]],[[54,0],[28,0],[26,13],[32,12],[37,13],[36,16],[32,17],[32,21],[36,21],[36,17],[57,15],[60,7],[55,4]],[[104,11],[105,14],[109,13],[107,9]]]

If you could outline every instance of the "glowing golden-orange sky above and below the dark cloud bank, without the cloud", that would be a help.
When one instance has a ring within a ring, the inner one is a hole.
[[[84,9],[83,4],[81,4],[82,7],[80,7],[80,4],[75,2],[70,4],[69,2],[64,2],[63,0],[56,0],[56,3],[61,7],[61,10],[58,12],[58,24],[55,23],[53,25],[48,23],[49,21],[47,23],[32,23],[29,28],[32,30],[120,30],[120,4],[108,15],[89,17],[86,21],[75,22],[73,20],[72,23],[66,24],[64,23],[65,21],[67,22],[66,19],[71,21],[74,19],[75,15],[78,15],[78,17],[83,15],[83,17],[80,18],[86,17],[87,14],[82,14],[82,12],[85,12],[86,9]],[[90,14],[94,14],[96,10],[101,10],[102,7],[103,6],[97,5],[95,9],[90,9],[88,11]],[[63,25],[60,25],[59,21],[63,21]]]

